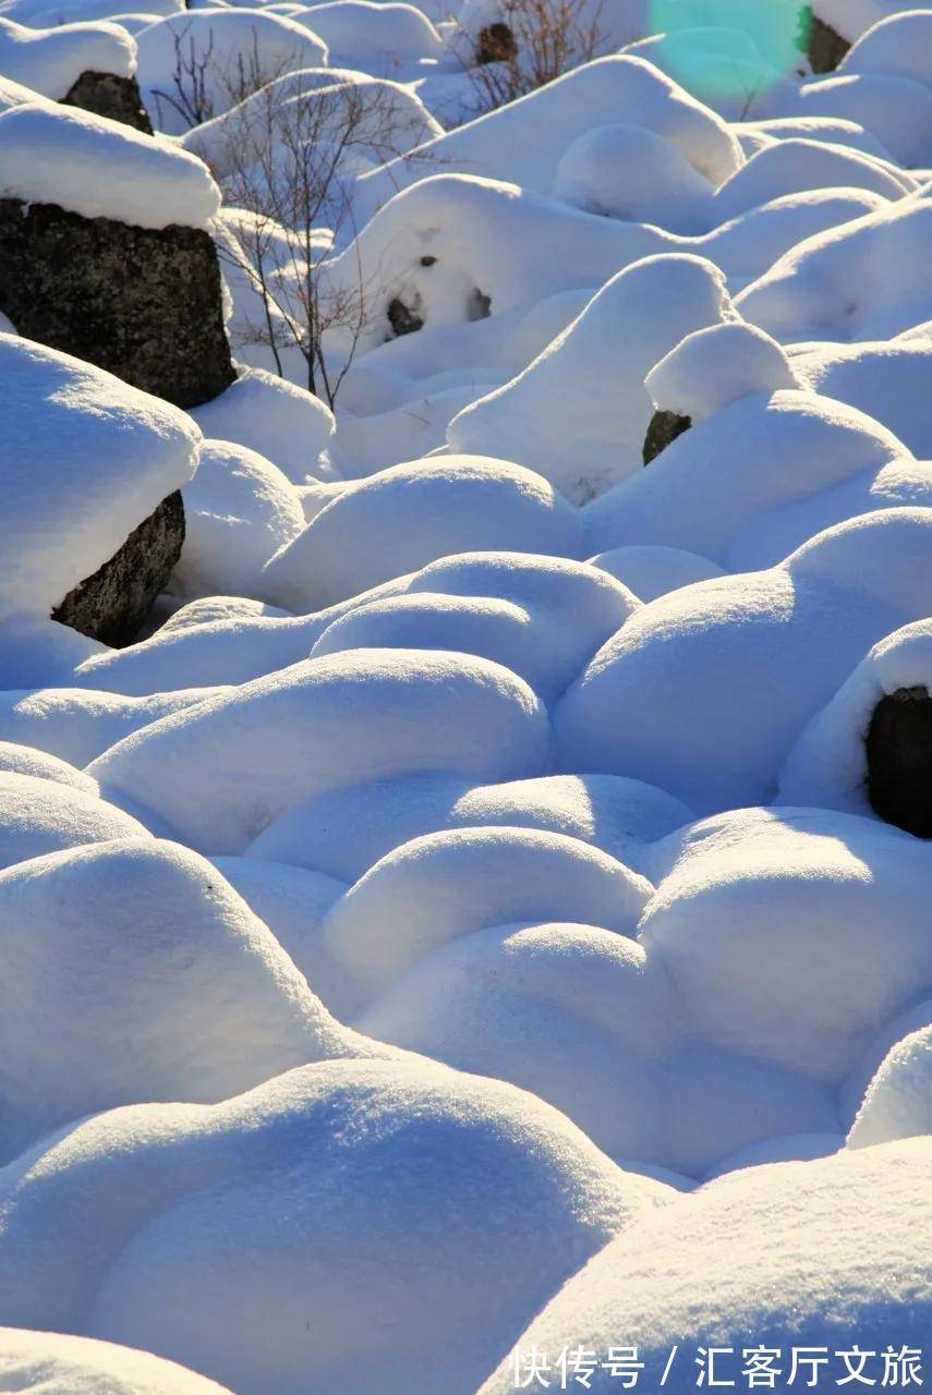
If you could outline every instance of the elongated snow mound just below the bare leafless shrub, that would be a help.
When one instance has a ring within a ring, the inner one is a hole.
[[[458,453],[353,481],[268,564],[262,594],[294,611],[346,600],[453,552],[579,557],[579,520],[518,465]]]

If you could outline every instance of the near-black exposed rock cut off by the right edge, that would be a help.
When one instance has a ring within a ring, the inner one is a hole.
[[[897,688],[880,699],[866,755],[873,812],[917,838],[932,838],[932,698],[926,688]]]

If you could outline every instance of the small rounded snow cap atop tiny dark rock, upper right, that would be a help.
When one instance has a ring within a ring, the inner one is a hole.
[[[660,412],[702,421],[752,392],[802,388],[776,339],[742,319],[686,335],[645,378]]]

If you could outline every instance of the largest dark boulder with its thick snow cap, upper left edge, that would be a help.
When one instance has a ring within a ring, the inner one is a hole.
[[[0,113],[0,310],[179,406],[234,378],[206,167],[74,107]]]

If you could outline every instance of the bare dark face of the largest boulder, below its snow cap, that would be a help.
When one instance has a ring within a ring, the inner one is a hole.
[[[236,379],[208,233],[0,199],[0,310],[17,332],[179,407]]]

